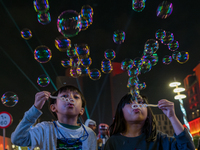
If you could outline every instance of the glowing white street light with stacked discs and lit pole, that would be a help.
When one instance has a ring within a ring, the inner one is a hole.
[[[179,85],[181,85],[181,83],[177,82],[177,81],[176,82],[172,82],[172,83],[169,84],[170,87],[176,87],[173,90],[174,93],[177,93],[177,95],[174,96],[174,99],[175,100],[179,100],[179,102],[180,102],[180,108],[181,108],[181,111],[183,113],[183,121],[184,121],[185,125],[187,126],[188,130],[190,130],[190,125],[189,125],[189,123],[187,121],[187,117],[186,117],[187,115],[186,115],[185,108],[183,107],[183,100],[182,100],[182,99],[186,98],[186,95],[185,94],[180,94],[180,92],[185,91],[185,88],[178,87]],[[189,134],[192,137],[192,135],[191,135],[190,132],[189,132]],[[193,139],[193,137],[192,137],[192,139]]]

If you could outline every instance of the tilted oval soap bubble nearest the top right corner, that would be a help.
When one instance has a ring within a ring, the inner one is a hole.
[[[158,5],[156,14],[157,14],[157,17],[166,19],[167,17],[169,17],[172,14],[172,11],[173,11],[172,3],[168,2],[168,1],[163,1],[162,3],[160,3]]]

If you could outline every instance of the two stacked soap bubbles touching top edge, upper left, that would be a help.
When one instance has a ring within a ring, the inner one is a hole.
[[[49,13],[48,0],[33,0],[33,6],[37,12],[38,22],[42,25],[49,24],[51,22],[51,15]]]

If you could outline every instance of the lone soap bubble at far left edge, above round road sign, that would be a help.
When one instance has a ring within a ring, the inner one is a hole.
[[[6,107],[14,107],[18,103],[18,96],[14,92],[5,92],[1,97],[1,102]]]

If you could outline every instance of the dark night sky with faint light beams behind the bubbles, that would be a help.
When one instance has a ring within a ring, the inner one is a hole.
[[[0,0],[0,95],[13,91],[19,97],[14,107],[6,107],[0,103],[0,112],[7,111],[13,117],[13,123],[6,129],[6,136],[10,137],[24,112],[33,105],[35,94],[42,90],[55,91],[58,84],[56,79],[65,76],[66,68],[61,66],[60,61],[67,58],[66,53],[60,52],[54,45],[55,38],[61,35],[56,26],[57,17],[69,9],[80,12],[81,7],[86,4],[93,7],[93,24],[70,39],[72,44],[88,44],[92,58],[90,68],[101,69],[101,61],[107,49],[113,49],[117,53],[112,62],[121,63],[125,58],[141,57],[144,43],[148,39],[155,39],[155,32],[158,29],[172,32],[175,40],[179,42],[178,51],[189,52],[190,58],[185,64],[173,60],[171,64],[165,65],[162,63],[162,58],[171,55],[172,52],[159,42],[158,64],[153,66],[150,72],[139,76],[140,81],[146,82],[147,88],[141,93],[149,97],[149,102],[156,104],[162,98],[173,101],[176,114],[183,122],[179,103],[174,100],[175,93],[173,88],[169,87],[169,83],[174,81],[175,77],[184,86],[183,79],[192,74],[193,68],[199,63],[200,1],[171,1],[174,9],[166,19],[156,16],[156,9],[161,2],[161,0],[147,0],[145,9],[142,12],[135,12],[132,10],[131,0],[49,0],[51,22],[42,25],[37,21],[33,1]],[[33,37],[30,40],[21,37],[20,31],[23,28],[32,31]],[[121,45],[115,44],[112,40],[113,32],[118,29],[126,33],[125,42]],[[45,64],[40,64],[34,59],[34,49],[39,45],[46,45],[52,51],[52,59]],[[37,85],[37,77],[45,73],[51,78],[51,83],[42,88]],[[112,122],[110,75],[102,73],[100,80],[97,81],[89,77],[72,80],[82,85],[81,90],[87,100],[87,110],[91,119],[96,120],[97,124],[104,122],[110,125]],[[124,76],[115,82],[119,84],[115,84],[118,87],[114,88],[121,88],[121,92],[128,91]],[[124,94],[125,92],[122,93]],[[120,99],[121,97],[118,97],[114,102],[117,103]],[[41,121],[52,119],[47,104],[42,111]],[[162,113],[157,108],[153,111],[155,114]],[[85,119],[86,114],[83,116],[83,120]]]

